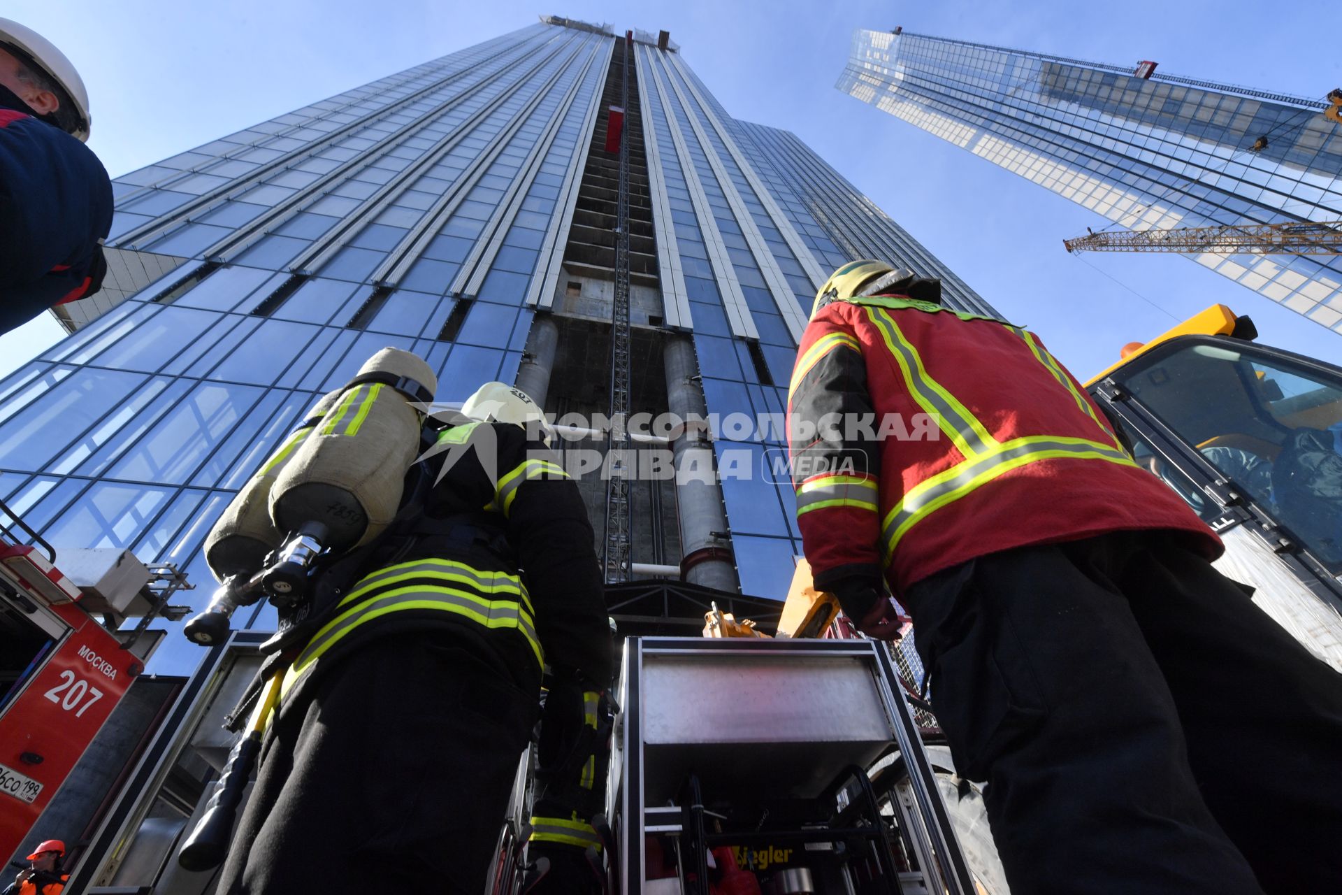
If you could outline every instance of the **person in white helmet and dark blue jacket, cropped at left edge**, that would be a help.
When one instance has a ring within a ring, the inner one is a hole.
[[[0,19],[0,333],[102,287],[111,181],[89,123],[70,59]]]

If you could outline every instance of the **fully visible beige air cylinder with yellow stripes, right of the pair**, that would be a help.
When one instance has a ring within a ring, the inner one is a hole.
[[[270,517],[285,545],[266,574],[274,598],[303,590],[322,550],[361,546],[391,523],[405,472],[420,452],[423,412],[437,378],[420,357],[384,348],[341,390],[270,488]]]

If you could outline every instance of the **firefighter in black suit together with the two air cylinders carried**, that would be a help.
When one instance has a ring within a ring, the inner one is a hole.
[[[207,539],[224,586],[188,635],[219,641],[260,594],[280,615],[180,856],[219,863],[259,751],[220,892],[484,891],[538,717],[527,891],[599,886],[611,645],[586,510],[525,393],[487,384],[446,421],[435,388],[384,349]]]

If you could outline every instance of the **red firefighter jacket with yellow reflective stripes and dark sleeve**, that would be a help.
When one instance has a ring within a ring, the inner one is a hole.
[[[988,553],[1133,529],[1221,551],[1039,337],[1000,321],[895,297],[828,305],[797,352],[788,431],[820,589],[883,573],[898,597]]]

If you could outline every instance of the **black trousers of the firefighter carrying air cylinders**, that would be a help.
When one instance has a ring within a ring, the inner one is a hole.
[[[271,725],[219,892],[479,895],[535,723],[442,633],[372,640]]]

